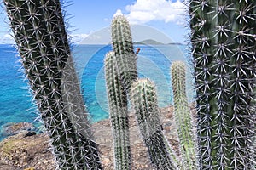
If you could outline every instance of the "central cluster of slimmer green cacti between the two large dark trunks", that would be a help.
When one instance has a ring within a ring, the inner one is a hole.
[[[154,82],[137,78],[137,53],[134,53],[131,29],[125,16],[118,15],[112,21],[113,52],[106,54],[105,76],[108,91],[110,120],[113,127],[115,169],[131,169],[129,141],[128,99],[135,111],[143,143],[156,169],[195,169],[195,139],[191,133],[192,122],[186,101],[185,68],[180,62],[173,64],[176,118],[180,126],[182,161],[168,144],[160,122],[160,109]],[[182,72],[182,76],[177,74]],[[183,80],[182,80],[183,79]],[[178,83],[175,83],[178,82]],[[181,100],[182,99],[182,100]],[[180,104],[179,101],[183,103]],[[184,116],[184,118],[183,118]],[[186,125],[186,126],[184,126]]]

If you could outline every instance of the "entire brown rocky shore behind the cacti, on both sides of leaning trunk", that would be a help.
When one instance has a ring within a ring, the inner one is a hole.
[[[173,108],[166,107],[161,110],[164,132],[170,144],[178,152],[177,131],[173,120]],[[143,145],[139,134],[137,122],[133,114],[130,120],[131,159],[132,169],[152,170],[148,152]],[[92,124],[96,143],[102,157],[105,170],[113,170],[113,139],[110,121],[103,120]],[[4,139],[0,143],[0,169],[1,170],[51,170],[55,169],[55,159],[51,153],[49,137],[46,133],[27,135],[27,131]],[[26,136],[26,137],[25,137]]]

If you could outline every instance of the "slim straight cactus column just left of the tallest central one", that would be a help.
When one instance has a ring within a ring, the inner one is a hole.
[[[127,95],[119,77],[117,60],[113,52],[106,54],[104,66],[109,115],[113,128],[115,169],[131,169]]]

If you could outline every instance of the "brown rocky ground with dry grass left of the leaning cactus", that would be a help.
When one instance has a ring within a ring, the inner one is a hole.
[[[32,167],[37,170],[55,169],[48,135],[41,133],[24,138],[25,135],[26,132],[20,132],[0,143],[0,161],[16,170]]]

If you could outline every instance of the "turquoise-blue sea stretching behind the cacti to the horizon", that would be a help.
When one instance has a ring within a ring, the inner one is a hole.
[[[189,57],[183,45],[135,45],[141,48],[137,59],[139,77],[154,81],[160,107],[172,105],[170,65],[174,60],[188,64]],[[110,45],[76,45],[73,57],[84,94],[84,104],[90,113],[90,121],[108,118],[108,99],[105,87],[103,61],[111,51]],[[0,44],[0,132],[12,122],[32,122],[38,127],[38,113],[32,104],[27,81],[12,45]],[[187,67],[187,94],[193,99],[192,79]],[[5,136],[0,133],[0,140]]]

